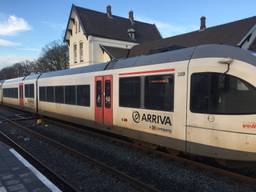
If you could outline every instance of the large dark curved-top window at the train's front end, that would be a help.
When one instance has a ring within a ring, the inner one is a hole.
[[[256,88],[242,79],[222,73],[191,76],[190,110],[209,114],[255,114]]]

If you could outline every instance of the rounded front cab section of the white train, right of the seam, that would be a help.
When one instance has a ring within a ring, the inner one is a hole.
[[[256,161],[256,56],[203,45],[189,65],[187,150],[217,159]]]

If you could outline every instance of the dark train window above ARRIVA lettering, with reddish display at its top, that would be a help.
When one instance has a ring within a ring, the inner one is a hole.
[[[155,75],[145,78],[145,108],[173,111],[174,75]]]

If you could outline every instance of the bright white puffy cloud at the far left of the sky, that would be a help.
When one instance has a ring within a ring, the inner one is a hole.
[[[15,15],[9,16],[6,21],[0,21],[0,35],[16,35],[29,30],[31,30],[31,26],[28,22]]]

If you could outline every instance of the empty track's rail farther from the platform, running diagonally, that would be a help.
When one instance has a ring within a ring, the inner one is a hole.
[[[146,183],[143,183],[139,180],[137,180],[136,178],[133,178],[111,166],[108,166],[107,164],[103,163],[103,162],[100,162],[98,161],[97,159],[94,159],[88,155],[85,155],[79,151],[77,151],[76,149],[72,148],[72,147],[69,147],[61,142],[58,142],[48,136],[45,136],[43,134],[40,134],[38,132],[35,132],[34,130],[30,129],[30,128],[27,128],[26,126],[22,125],[19,123],[19,121],[22,119],[9,119],[9,118],[6,118],[5,116],[3,115],[0,115],[0,118],[2,118],[5,122],[9,122],[11,123],[12,125],[18,127],[18,128],[21,128],[27,132],[29,132],[30,134],[42,139],[42,140],[47,140],[47,142],[59,147],[59,148],[62,148],[64,149],[65,151],[68,151],[68,153],[71,153],[72,155],[78,157],[79,159],[82,159],[83,161],[87,161],[87,162],[90,162],[91,164],[94,164],[95,166],[97,167],[100,167],[100,169],[106,171],[106,172],[109,172],[110,174],[114,174],[116,177],[118,177],[119,179],[125,181],[125,182],[128,182],[129,184],[131,184],[133,187],[135,187],[136,189],[138,189],[139,191],[145,191],[145,192],[159,192],[159,190],[155,189],[154,187],[146,184]],[[23,120],[26,120],[26,118],[23,118]],[[66,191],[66,190],[64,190]],[[69,190],[67,190],[69,191]],[[71,191],[71,190],[70,190]]]

